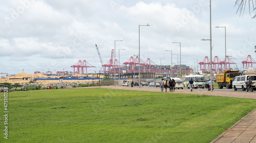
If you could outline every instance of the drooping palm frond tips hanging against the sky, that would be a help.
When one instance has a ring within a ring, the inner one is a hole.
[[[244,11],[246,9],[247,4],[248,4],[248,7],[249,7],[250,15],[251,15],[251,11],[255,12],[255,15],[252,17],[252,18],[255,18],[256,17],[256,0],[237,0],[236,1],[236,5],[238,5],[237,12],[238,11],[240,12],[240,16],[241,16],[242,13],[244,14]]]

